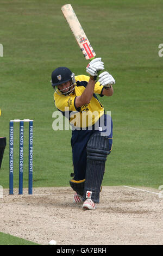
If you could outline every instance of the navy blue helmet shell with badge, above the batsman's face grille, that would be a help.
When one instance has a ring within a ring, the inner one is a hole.
[[[66,83],[67,81],[73,80],[75,83],[74,74],[72,71],[65,66],[60,66],[52,72],[52,86],[55,87],[58,84]]]

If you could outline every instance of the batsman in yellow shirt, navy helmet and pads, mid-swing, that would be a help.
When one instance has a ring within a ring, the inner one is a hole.
[[[112,96],[114,78],[104,70],[101,58],[91,60],[86,75],[75,76],[61,66],[52,72],[55,106],[72,126],[74,203],[83,202],[84,210],[95,210],[105,172],[105,162],[112,150],[112,119],[105,114],[98,96]],[[103,71],[98,75],[99,71]],[[97,81],[98,80],[98,81]]]

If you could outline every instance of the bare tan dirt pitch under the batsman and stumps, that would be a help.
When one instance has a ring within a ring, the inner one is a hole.
[[[141,187],[142,189],[142,187]],[[152,188],[145,190],[159,193]],[[34,188],[0,198],[0,231],[41,245],[162,245],[163,198],[127,187],[103,187],[95,211],[73,204],[69,187]]]

